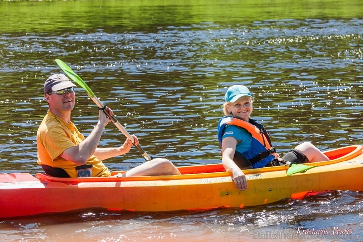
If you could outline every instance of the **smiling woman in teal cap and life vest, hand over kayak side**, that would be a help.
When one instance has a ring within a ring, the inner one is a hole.
[[[236,188],[247,188],[246,177],[241,169],[279,165],[271,139],[257,120],[251,118],[254,98],[243,85],[228,88],[223,105],[226,115],[218,124],[218,140],[222,147],[222,163],[231,172]],[[291,149],[283,158],[296,163],[327,161],[329,158],[309,142]]]

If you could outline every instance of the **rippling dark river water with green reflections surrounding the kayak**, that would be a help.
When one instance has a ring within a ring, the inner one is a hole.
[[[252,116],[280,154],[303,141],[321,150],[363,144],[360,0],[1,1],[0,16],[1,173],[42,172],[36,131],[43,83],[61,72],[56,58],[148,154],[177,166],[221,162],[216,127],[233,84],[253,92]],[[97,107],[80,87],[76,97],[73,122],[87,135]],[[100,145],[124,140],[109,124]],[[104,161],[111,170],[142,162],[134,148]],[[363,193],[332,191],[245,209],[9,219],[0,241],[362,242],[362,228]]]

